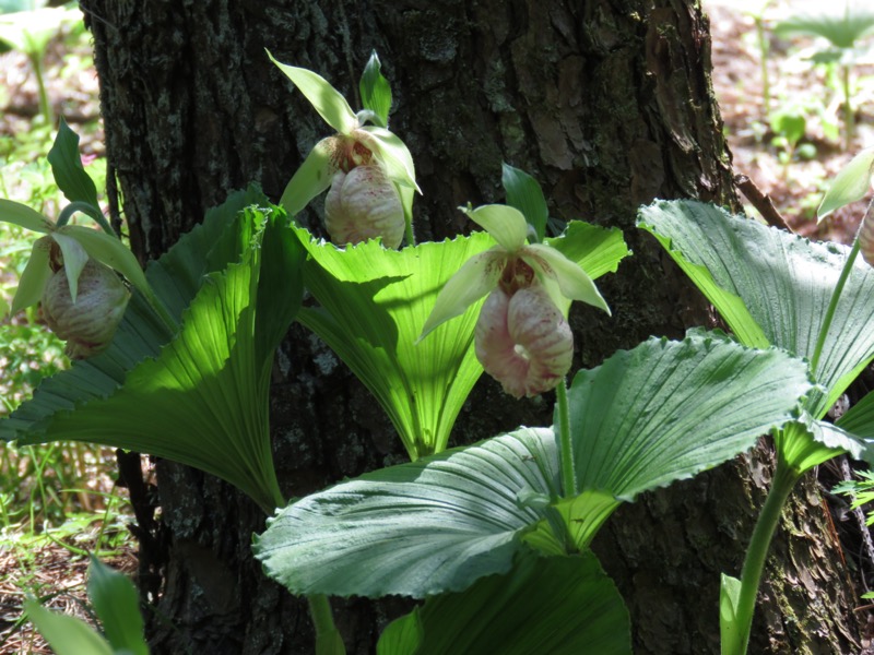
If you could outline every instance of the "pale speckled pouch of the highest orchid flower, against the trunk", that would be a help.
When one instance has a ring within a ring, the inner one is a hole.
[[[387,248],[403,240],[405,221],[398,189],[377,164],[334,175],[324,200],[324,226],[336,245],[382,237]]]

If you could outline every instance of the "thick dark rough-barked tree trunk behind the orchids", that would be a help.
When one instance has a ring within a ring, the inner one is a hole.
[[[708,25],[696,2],[81,5],[94,35],[108,177],[123,196],[123,207],[111,209],[123,210],[143,260],[233,189],[258,181],[279,199],[328,134],[265,48],[322,74],[353,107],[376,49],[394,93],[391,128],[409,145],[424,192],[415,205],[420,240],[469,230],[460,204],[501,201],[506,160],[543,184],[553,215],[618,226],[635,252],[600,285],[612,319],[575,309],[577,366],[651,334],[678,336],[712,322],[700,296],[634,227],[637,206],[654,198],[737,205],[710,86]],[[320,214],[317,207],[303,218],[316,229]],[[272,425],[286,497],[403,460],[366,390],[299,325],[274,372]],[[548,421],[550,401],[516,403],[484,379],[453,438]],[[152,588],[153,652],[311,652],[305,606],[252,561],[250,537],[264,524],[256,505],[199,472],[168,462],[157,468],[160,535],[143,541],[143,567],[163,580]],[[609,523],[595,547],[631,610],[636,652],[719,652],[719,573],[740,571],[768,471],[743,458],[647,495]],[[751,652],[851,652],[852,592],[824,537],[815,486],[796,499],[773,549]],[[373,652],[379,629],[405,607],[335,606],[350,653]]]

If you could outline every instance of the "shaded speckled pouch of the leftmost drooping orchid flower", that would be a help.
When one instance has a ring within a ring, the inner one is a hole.
[[[130,293],[111,269],[88,260],[79,276],[75,302],[67,271],[61,267],[43,291],[43,315],[67,342],[70,359],[85,359],[104,350],[118,327]]]

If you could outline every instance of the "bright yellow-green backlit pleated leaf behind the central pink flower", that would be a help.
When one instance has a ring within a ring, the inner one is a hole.
[[[446,448],[461,406],[482,374],[473,332],[483,300],[416,343],[437,293],[471,257],[495,245],[485,233],[403,250],[368,241],[343,250],[298,229],[311,260],[305,282],[321,307],[298,320],[364,382],[389,415],[410,457]],[[553,240],[597,277],[628,253],[622,233],[571,224]],[[552,241],[551,241],[552,242]]]

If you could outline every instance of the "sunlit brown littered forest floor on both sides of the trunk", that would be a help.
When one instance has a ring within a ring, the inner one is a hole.
[[[787,15],[790,7],[798,11],[811,2],[815,5],[818,0],[771,2],[765,14],[766,25]],[[822,225],[817,225],[815,213],[837,171],[853,154],[874,145],[874,66],[863,63],[853,70],[857,130],[850,147],[846,148],[841,140],[840,88],[835,83],[834,71],[811,64],[810,56],[818,47],[811,38],[781,39],[770,33],[766,35],[770,49],[766,64],[770,81],[768,111],[755,21],[753,13],[743,9],[745,4],[756,11],[763,2],[704,0],[705,11],[711,19],[712,80],[735,174],[747,176],[766,193],[793,231],[814,239],[849,243],[864,211],[864,202],[837,212]],[[80,55],[63,47],[49,52],[54,70],[66,71],[56,78],[48,76],[49,95],[56,114],[62,112],[68,120],[72,119],[74,129],[82,133],[83,153],[90,158],[101,158],[104,148],[97,120],[96,75],[87,66],[70,66],[69,58]],[[16,52],[0,56],[0,105],[3,106],[0,139],[21,139],[22,134],[33,132],[31,122],[38,112],[38,96],[28,66],[26,58]],[[781,141],[786,134],[775,129],[771,119],[776,115],[803,118],[803,136],[798,143]],[[44,155],[45,152],[34,152],[34,160]],[[751,203],[745,206],[749,215],[757,215]],[[2,264],[0,261],[0,283],[3,282]],[[0,366],[2,357],[0,353]],[[2,378],[0,371],[0,395],[4,393]],[[111,466],[111,462],[106,465]],[[113,491],[111,478],[105,472],[94,491]],[[38,545],[24,544],[22,549],[7,537],[0,539],[0,653],[49,653],[38,635],[17,622],[21,600],[26,591],[35,590],[47,598],[48,606],[87,616],[84,592],[87,559],[81,555],[87,543],[78,543],[71,548],[69,538],[44,539]],[[135,570],[133,549],[130,540],[120,544],[109,563],[132,572]]]

